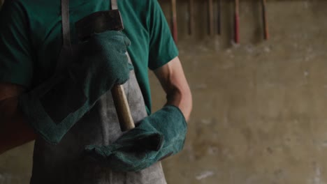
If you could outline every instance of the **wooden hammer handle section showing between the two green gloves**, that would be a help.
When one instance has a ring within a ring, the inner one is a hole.
[[[126,94],[122,85],[115,85],[111,89],[112,99],[115,103],[116,112],[122,132],[135,128],[129,102],[127,102]]]

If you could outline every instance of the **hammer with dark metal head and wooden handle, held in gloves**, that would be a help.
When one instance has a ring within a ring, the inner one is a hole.
[[[92,33],[102,33],[109,30],[122,31],[124,29],[124,24],[119,10],[105,10],[92,13],[91,15],[87,15],[87,17],[78,20],[78,22],[75,23],[75,28],[78,33],[78,39],[83,41],[87,40]],[[124,132],[135,128],[123,86],[113,86],[111,93],[120,129]]]

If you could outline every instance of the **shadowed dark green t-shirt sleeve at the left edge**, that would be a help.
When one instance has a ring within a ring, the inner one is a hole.
[[[33,75],[27,15],[18,1],[0,11],[0,82],[30,86]]]

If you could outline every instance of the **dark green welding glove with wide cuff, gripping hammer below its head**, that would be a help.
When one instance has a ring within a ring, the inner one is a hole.
[[[64,70],[20,96],[19,105],[36,133],[57,144],[114,84],[129,79],[126,47],[119,31],[94,33],[78,45],[78,57]]]

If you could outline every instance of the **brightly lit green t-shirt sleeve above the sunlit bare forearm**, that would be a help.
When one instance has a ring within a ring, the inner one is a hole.
[[[166,17],[157,0],[150,1],[148,17],[150,31],[149,68],[155,70],[178,56]]]

